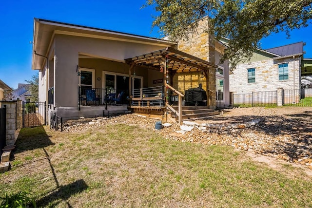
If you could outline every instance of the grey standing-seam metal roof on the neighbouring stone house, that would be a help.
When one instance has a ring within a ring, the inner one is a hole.
[[[290,56],[303,53],[303,42],[292,43],[275,48],[265,49],[265,51],[277,54],[279,56]]]

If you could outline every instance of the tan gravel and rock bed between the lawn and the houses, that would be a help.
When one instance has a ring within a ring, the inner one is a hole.
[[[126,123],[151,129],[167,139],[198,144],[230,145],[240,150],[300,163],[312,169],[311,107],[235,108],[225,110],[217,116],[192,121],[198,124],[239,124],[252,119],[260,119],[261,123],[242,132],[220,134],[204,132],[197,128],[191,132],[181,132],[177,124],[156,130],[155,119],[125,114],[92,121],[90,119],[72,121],[69,125],[64,125],[64,132],[77,132],[107,124]]]

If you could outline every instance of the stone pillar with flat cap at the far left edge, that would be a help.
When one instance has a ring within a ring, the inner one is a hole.
[[[5,131],[5,138],[6,138],[6,145],[13,145],[15,144],[15,130],[16,130],[16,123],[15,123],[15,107],[17,100],[13,101],[1,101],[2,106],[6,106],[6,131]]]

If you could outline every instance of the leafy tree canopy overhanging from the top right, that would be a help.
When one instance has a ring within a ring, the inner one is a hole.
[[[250,60],[262,38],[279,31],[289,37],[312,19],[312,0],[147,0],[148,5],[159,14],[153,27],[171,40],[187,39],[208,16],[206,32],[228,39],[221,61],[229,59],[232,68]]]

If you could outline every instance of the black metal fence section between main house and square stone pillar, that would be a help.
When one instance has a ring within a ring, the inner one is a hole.
[[[233,106],[277,106],[277,91],[233,94]]]

